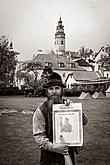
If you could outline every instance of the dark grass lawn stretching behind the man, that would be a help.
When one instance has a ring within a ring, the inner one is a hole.
[[[32,135],[32,116],[44,99],[0,97],[0,165],[39,165],[40,151]],[[89,119],[76,165],[110,165],[110,99],[71,97],[71,100],[82,102]]]

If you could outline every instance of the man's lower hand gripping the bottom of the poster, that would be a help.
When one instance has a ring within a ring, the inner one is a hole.
[[[67,144],[53,144],[51,151],[57,152],[60,154],[68,154],[68,145]]]

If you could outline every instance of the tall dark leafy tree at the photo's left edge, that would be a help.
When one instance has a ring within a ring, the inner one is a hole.
[[[5,35],[0,37],[0,81],[5,86],[14,85],[16,57],[19,54],[12,50],[11,44],[9,45],[8,38]]]

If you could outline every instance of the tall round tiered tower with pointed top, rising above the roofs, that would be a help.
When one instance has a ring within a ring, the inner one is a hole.
[[[65,33],[64,33],[64,26],[62,25],[61,17],[58,21],[58,26],[56,27],[55,50],[56,50],[56,54],[59,55],[65,53]]]

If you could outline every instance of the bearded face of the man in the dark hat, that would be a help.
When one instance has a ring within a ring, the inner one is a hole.
[[[58,85],[48,87],[47,97],[49,100],[53,100],[53,103],[60,103],[62,98],[62,88]]]

